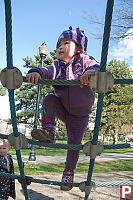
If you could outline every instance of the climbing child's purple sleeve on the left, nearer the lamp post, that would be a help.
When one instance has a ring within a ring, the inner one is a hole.
[[[32,72],[39,73],[42,79],[55,79],[56,76],[55,62],[53,62],[48,67],[34,67],[28,71],[28,74]]]

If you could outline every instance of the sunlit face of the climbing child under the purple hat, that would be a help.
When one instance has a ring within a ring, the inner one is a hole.
[[[70,39],[62,39],[58,43],[56,56],[59,60],[68,63],[76,53],[76,43]]]

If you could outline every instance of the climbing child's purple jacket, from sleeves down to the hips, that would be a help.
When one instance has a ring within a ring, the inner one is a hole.
[[[42,79],[66,79],[66,80],[77,80],[87,70],[99,70],[99,63],[88,55],[81,54],[80,59],[74,63],[74,59],[69,64],[63,63],[63,69],[65,68],[65,76],[62,70],[62,62],[55,60],[48,67],[35,67],[29,70],[28,73],[38,72]],[[94,103],[95,94],[89,88],[89,86],[65,86],[55,87],[55,94],[60,98],[61,103],[66,110],[76,116],[85,116],[91,113],[91,108]]]

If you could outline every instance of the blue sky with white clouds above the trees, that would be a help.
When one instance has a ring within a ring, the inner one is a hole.
[[[24,75],[26,69],[23,58],[31,58],[39,53],[39,46],[45,42],[49,52],[53,51],[59,35],[72,26],[84,30],[88,37],[87,54],[93,56],[98,62],[101,59],[102,40],[90,37],[93,28],[83,16],[105,16],[107,0],[67,0],[63,2],[44,0],[12,0],[12,41],[13,65],[21,70]],[[99,6],[100,5],[100,6]],[[104,18],[103,18],[104,19]],[[95,30],[98,31],[97,29]],[[103,30],[100,30],[103,32]],[[133,41],[133,39],[132,39]],[[133,46],[133,45],[132,45]],[[119,41],[109,46],[108,59],[119,57],[125,59],[132,47],[127,42]],[[133,65],[130,62],[131,65]],[[6,67],[6,41],[5,41],[5,11],[4,0],[0,1],[0,69]],[[3,109],[3,103],[5,105]],[[9,117],[8,96],[0,97],[0,118]]]

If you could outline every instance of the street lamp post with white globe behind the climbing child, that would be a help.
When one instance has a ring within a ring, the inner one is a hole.
[[[48,54],[48,47],[45,43],[39,47],[39,55],[41,58],[41,67],[43,67],[44,59]],[[37,86],[37,98],[36,98],[36,109],[35,109],[35,118],[34,118],[34,129],[38,126],[38,118],[39,118],[39,102],[40,102],[40,94],[41,94],[41,85],[38,84]],[[31,152],[29,155],[29,161],[36,161],[36,154],[35,154],[35,145],[31,146]]]

